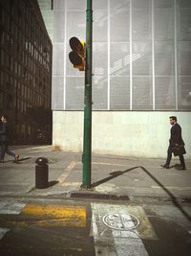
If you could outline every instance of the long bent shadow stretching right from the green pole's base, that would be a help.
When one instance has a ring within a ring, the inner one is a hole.
[[[110,176],[107,176],[103,179],[100,179],[94,183],[92,183],[92,187],[95,188],[96,186],[100,185],[100,184],[103,184],[113,178],[116,178],[117,176],[119,175],[124,175],[126,173],[129,173],[137,168],[140,168],[146,175],[149,175],[158,185],[159,187],[165,191],[165,193],[171,198],[171,201],[173,202],[173,204],[180,210],[180,212],[182,213],[182,215],[188,220],[191,222],[191,216],[188,215],[186,213],[186,211],[184,211],[184,209],[181,207],[180,203],[179,203],[179,200],[154,176],[152,175],[146,168],[144,168],[143,166],[135,166],[135,167],[132,167],[130,169],[127,169],[125,171],[116,171],[116,172],[113,172],[113,173],[110,173],[109,175]]]

